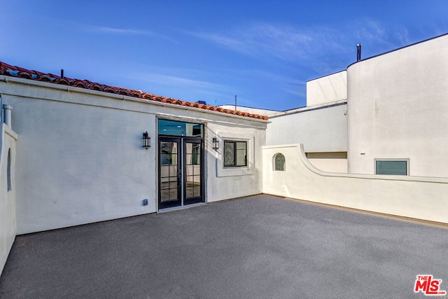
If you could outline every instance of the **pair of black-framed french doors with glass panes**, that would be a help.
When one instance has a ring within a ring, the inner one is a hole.
[[[204,201],[204,140],[159,136],[159,209]]]

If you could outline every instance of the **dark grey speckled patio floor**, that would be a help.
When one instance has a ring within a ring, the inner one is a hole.
[[[0,298],[425,298],[447,257],[444,228],[257,195],[18,236]]]

